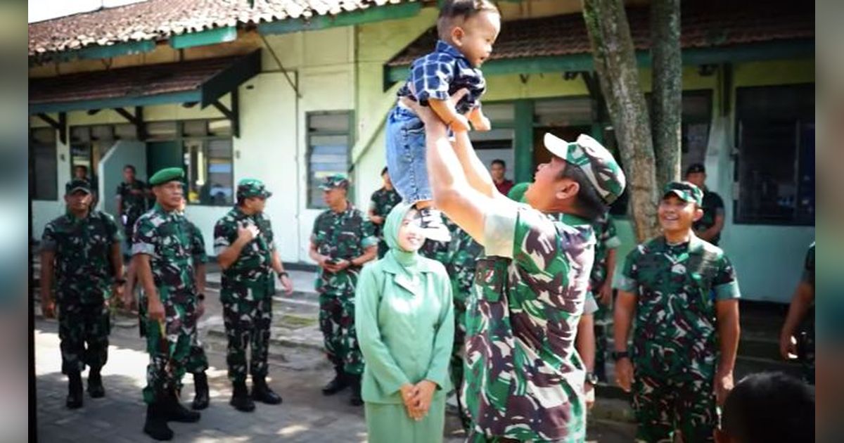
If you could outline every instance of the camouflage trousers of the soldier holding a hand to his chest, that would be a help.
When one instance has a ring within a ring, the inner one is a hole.
[[[223,321],[229,339],[225,362],[229,366],[229,380],[246,381],[246,368],[252,378],[267,376],[269,332],[273,323],[273,295],[267,289],[243,289],[236,294],[222,289]],[[250,361],[246,362],[246,348],[250,347]]]

